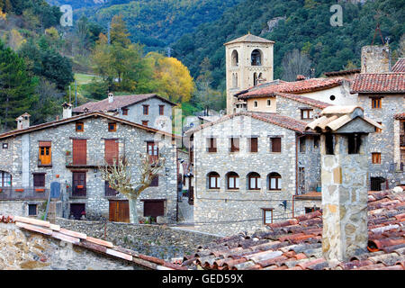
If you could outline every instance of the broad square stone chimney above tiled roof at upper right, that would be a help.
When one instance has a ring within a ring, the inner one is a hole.
[[[386,73],[390,72],[390,47],[364,46],[362,48],[361,73]]]

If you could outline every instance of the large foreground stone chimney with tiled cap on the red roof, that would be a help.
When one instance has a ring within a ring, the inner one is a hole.
[[[359,106],[329,106],[306,127],[320,133],[322,253],[330,263],[367,251],[368,134],[375,127]]]

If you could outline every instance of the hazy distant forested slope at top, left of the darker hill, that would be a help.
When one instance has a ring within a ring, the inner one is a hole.
[[[74,12],[74,16],[78,19],[85,15],[90,21],[102,24],[106,29],[112,17],[121,14],[130,31],[130,40],[144,44],[147,52],[163,51],[184,33],[194,31],[202,23],[219,19],[226,8],[240,1],[116,0],[108,1],[103,6],[78,9]]]

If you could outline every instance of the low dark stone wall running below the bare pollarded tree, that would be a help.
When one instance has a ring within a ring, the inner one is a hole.
[[[217,235],[171,228],[165,225],[105,223],[63,218],[57,218],[56,223],[65,229],[82,232],[94,238],[103,238],[114,245],[163,259],[193,253],[200,245],[208,244],[219,238]]]

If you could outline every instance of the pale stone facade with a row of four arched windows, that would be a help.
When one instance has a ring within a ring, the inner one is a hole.
[[[229,138],[239,138],[239,152],[229,152]],[[249,152],[248,139],[258,138],[258,150]],[[270,151],[270,138],[282,139],[282,152]],[[207,138],[216,139],[217,152],[208,152]],[[243,230],[254,230],[264,225],[264,211],[272,211],[272,220],[291,218],[293,214],[293,194],[297,191],[296,153],[302,165],[308,165],[307,187],[315,187],[320,176],[319,163],[313,153],[311,140],[308,149],[297,151],[297,133],[266,121],[248,116],[235,116],[221,121],[193,134],[193,186],[195,226],[211,233],[230,235]],[[311,162],[311,159],[314,162]],[[209,174],[220,175],[219,188],[211,189]],[[238,174],[238,189],[228,188],[229,172]],[[248,175],[260,175],[258,190],[248,187]],[[281,175],[280,189],[269,189],[269,175]],[[312,206],[312,205],[311,205]],[[303,211],[294,211],[296,214]],[[270,216],[269,216],[270,217]]]

